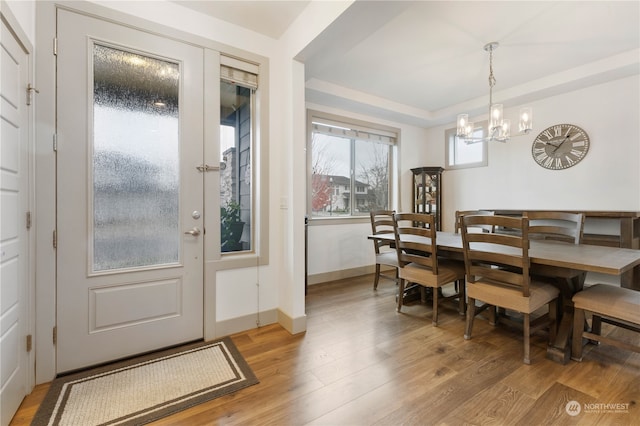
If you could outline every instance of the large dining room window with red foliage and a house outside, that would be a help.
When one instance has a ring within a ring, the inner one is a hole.
[[[313,111],[307,125],[309,216],[365,216],[389,209],[398,132]]]

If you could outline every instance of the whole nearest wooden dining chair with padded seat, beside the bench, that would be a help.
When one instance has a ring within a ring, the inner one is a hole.
[[[469,232],[474,226],[517,230],[517,234]],[[530,337],[549,328],[549,342],[555,340],[558,289],[529,276],[529,221],[526,217],[464,216],[462,246],[467,272],[467,323],[465,339],[471,339],[476,314],[490,309],[490,321],[506,321],[496,316],[496,307],[523,315],[524,363],[530,364]],[[476,307],[476,301],[483,304]],[[531,314],[548,305],[548,312],[531,321]]]

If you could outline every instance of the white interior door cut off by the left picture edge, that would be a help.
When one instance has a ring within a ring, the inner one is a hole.
[[[0,424],[27,394],[28,53],[2,20],[0,38]]]

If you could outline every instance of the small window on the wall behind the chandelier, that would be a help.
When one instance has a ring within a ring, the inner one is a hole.
[[[486,127],[486,122],[484,124],[477,123],[472,136],[474,138],[484,137]],[[483,167],[488,164],[486,141],[467,144],[464,139],[456,136],[455,128],[446,130],[444,135],[445,160],[448,170]]]

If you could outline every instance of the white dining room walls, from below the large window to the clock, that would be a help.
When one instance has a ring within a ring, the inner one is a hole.
[[[445,170],[443,230],[453,231],[456,210],[640,210],[639,83],[636,75],[531,104],[535,126],[531,134],[512,138],[506,144],[491,143],[488,167]],[[519,108],[505,110],[505,116],[516,116]],[[576,166],[546,170],[533,161],[531,144],[538,133],[559,123],[582,127],[589,134],[591,147]],[[411,209],[410,169],[444,167],[444,132],[455,122],[430,129],[395,125],[402,128],[401,203],[397,207],[401,211]],[[372,265],[368,233],[368,223],[310,226],[309,274]]]

